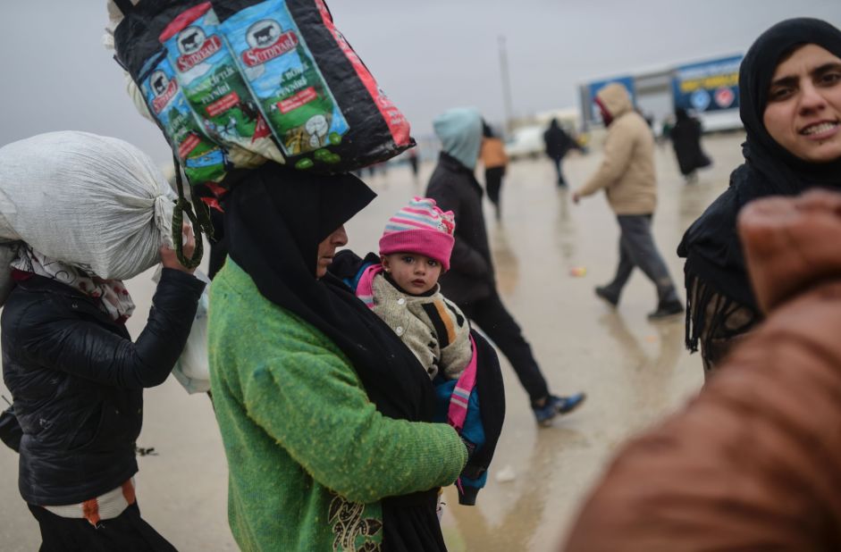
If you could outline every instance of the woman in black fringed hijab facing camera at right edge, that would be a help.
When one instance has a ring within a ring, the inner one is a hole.
[[[709,375],[734,340],[761,322],[736,235],[736,216],[757,197],[841,188],[841,31],[799,18],[766,30],[739,71],[744,164],[686,230],[686,346],[702,349]]]

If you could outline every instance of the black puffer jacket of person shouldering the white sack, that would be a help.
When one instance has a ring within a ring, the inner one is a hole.
[[[181,355],[204,283],[164,269],[136,343],[95,300],[40,276],[6,301],[3,379],[23,430],[19,487],[29,504],[60,506],[119,487],[138,471],[143,388]]]

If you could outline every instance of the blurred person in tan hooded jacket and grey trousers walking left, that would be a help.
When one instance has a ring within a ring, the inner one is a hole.
[[[608,127],[604,158],[599,170],[572,196],[574,203],[604,188],[619,223],[619,263],[616,276],[596,295],[616,306],[634,267],[639,267],[657,287],[657,308],[650,320],[682,313],[669,269],[652,237],[652,216],[657,205],[654,176],[654,137],[643,117],[634,111],[624,86],[612,83],[595,99]]]

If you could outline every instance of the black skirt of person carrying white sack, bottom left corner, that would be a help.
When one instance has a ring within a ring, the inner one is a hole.
[[[86,519],[53,514],[29,506],[41,528],[40,552],[177,552],[176,548],[140,517],[135,502],[114,519],[94,527]]]

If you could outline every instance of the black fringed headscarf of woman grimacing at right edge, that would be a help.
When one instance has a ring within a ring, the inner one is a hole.
[[[729,188],[686,230],[677,247],[677,255],[686,258],[687,290],[696,279],[705,284],[702,293],[694,297],[694,305],[687,293],[686,346],[692,350],[698,347],[713,294],[744,305],[755,318],[761,316],[736,232],[736,216],[742,207],[757,197],[795,196],[815,187],[841,188],[841,159],[806,162],[771,138],[763,123],[774,71],[783,57],[806,44],[841,57],[841,31],[826,21],[797,18],[781,21],[762,33],[742,60],[739,114],[747,133],[742,145],[744,164],[730,174]]]

